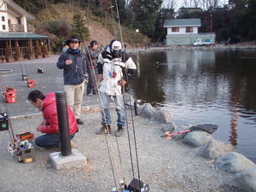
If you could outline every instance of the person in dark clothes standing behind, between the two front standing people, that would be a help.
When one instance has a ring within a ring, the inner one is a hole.
[[[100,55],[101,51],[98,48],[99,43],[94,41],[90,42],[90,46],[86,49],[86,56],[87,56],[87,70],[88,70],[88,83],[86,88],[86,95],[89,96],[91,93],[96,95],[97,85],[96,85],[96,75],[97,75],[97,58]]]

